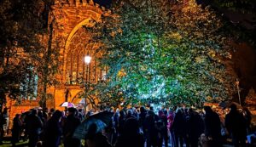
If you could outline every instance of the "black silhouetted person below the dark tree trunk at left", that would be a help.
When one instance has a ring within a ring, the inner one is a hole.
[[[61,143],[61,116],[60,110],[55,110],[53,115],[46,122],[44,129],[44,147],[58,147]]]

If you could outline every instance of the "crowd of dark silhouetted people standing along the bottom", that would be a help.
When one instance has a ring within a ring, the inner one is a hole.
[[[236,105],[217,113],[210,106],[198,111],[173,107],[154,110],[153,107],[108,109],[113,111],[111,122],[98,132],[91,125],[84,137],[86,147],[218,147],[227,138],[235,147],[246,146],[247,135],[252,133],[251,114]],[[93,112],[84,110],[36,110],[17,114],[13,120],[12,144],[28,139],[29,147],[80,147],[81,140],[73,138],[76,127]],[[23,133],[23,135],[21,135]]]

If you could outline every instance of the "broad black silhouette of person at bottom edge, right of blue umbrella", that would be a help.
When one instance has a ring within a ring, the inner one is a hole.
[[[125,121],[124,133],[122,133],[115,147],[144,147],[143,134],[139,133],[139,124],[136,118]]]

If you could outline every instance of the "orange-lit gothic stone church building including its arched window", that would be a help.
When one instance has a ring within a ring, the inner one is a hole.
[[[49,13],[49,21],[55,20],[53,38],[59,42],[61,54],[60,74],[56,76],[61,83],[56,87],[48,88],[53,98],[47,100],[48,108],[63,110],[61,103],[68,101],[78,104],[81,93],[86,90],[86,83],[96,83],[104,78],[106,69],[99,68],[98,59],[102,53],[96,52],[99,45],[90,41],[90,33],[83,26],[93,26],[94,22],[101,20],[102,14],[109,14],[106,8],[94,3],[92,0],[56,1]],[[54,19],[53,19],[54,18]],[[84,62],[84,57],[90,56],[90,64]],[[15,100],[7,100],[10,119],[16,113],[38,106],[38,99],[23,100],[19,105]],[[87,98],[87,110],[92,109],[91,103],[96,104],[97,99]]]

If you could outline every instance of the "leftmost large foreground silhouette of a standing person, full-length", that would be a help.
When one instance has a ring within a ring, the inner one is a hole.
[[[35,147],[38,143],[39,135],[43,127],[43,123],[38,117],[38,110],[32,110],[31,114],[26,116],[26,133],[28,134],[28,146]]]

